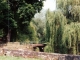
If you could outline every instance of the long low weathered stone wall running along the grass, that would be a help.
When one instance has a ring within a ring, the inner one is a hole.
[[[0,48],[0,55],[16,56],[24,58],[42,58],[43,60],[80,60],[79,55],[57,54],[57,53],[45,53],[26,51],[22,49],[9,50]]]

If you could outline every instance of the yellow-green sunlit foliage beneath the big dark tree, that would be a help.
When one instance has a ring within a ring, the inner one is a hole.
[[[27,40],[29,40],[32,43],[38,43],[37,33],[32,22],[30,22],[30,25],[27,26],[27,30],[25,30],[25,32],[24,30],[21,31],[21,33],[18,33],[18,40],[20,42],[26,42]]]

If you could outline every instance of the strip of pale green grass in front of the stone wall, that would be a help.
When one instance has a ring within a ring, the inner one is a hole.
[[[11,56],[0,56],[0,60],[42,60],[42,59],[38,59],[38,58],[11,57]]]

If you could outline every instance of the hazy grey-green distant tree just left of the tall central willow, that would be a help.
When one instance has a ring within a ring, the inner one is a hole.
[[[32,22],[34,24],[39,43],[44,43],[46,41],[45,40],[45,22],[43,22],[41,18],[34,18]]]

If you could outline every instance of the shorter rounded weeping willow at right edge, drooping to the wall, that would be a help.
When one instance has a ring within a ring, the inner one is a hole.
[[[65,25],[63,31],[63,45],[67,48],[67,53],[78,54],[80,41],[80,23],[71,23]]]

